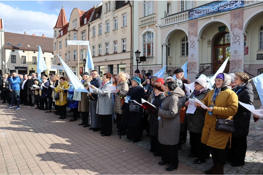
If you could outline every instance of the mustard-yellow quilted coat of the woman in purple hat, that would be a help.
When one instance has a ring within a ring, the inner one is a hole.
[[[206,97],[201,101],[208,108],[213,102],[211,98],[214,94],[215,89],[211,90]],[[216,131],[216,119],[217,118],[227,118],[232,120],[233,115],[236,114],[238,107],[238,97],[236,93],[227,87],[221,88],[220,94],[215,98],[215,106],[213,109],[213,114],[209,115],[208,111],[205,114],[205,123],[202,131],[201,142],[211,146],[213,148],[225,149],[228,140],[230,143],[227,145],[231,148],[231,133]]]

